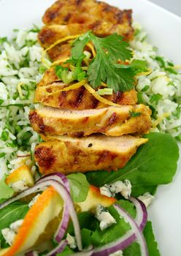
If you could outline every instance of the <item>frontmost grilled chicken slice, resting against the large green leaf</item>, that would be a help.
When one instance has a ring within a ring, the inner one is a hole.
[[[55,171],[68,174],[90,170],[118,170],[126,165],[136,148],[147,142],[131,135],[88,138],[47,136],[35,148],[35,160],[43,174]]]

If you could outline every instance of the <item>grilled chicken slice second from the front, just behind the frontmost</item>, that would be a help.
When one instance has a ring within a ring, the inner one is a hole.
[[[131,113],[139,116],[131,117]],[[149,131],[151,111],[145,105],[121,105],[93,110],[42,108],[31,110],[29,119],[36,132],[50,135],[87,136],[102,133],[121,136]]]

